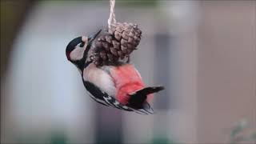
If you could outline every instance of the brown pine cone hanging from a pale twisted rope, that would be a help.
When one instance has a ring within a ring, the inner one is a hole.
[[[115,23],[111,29],[95,39],[90,59],[97,66],[102,66],[123,59],[136,50],[141,40],[142,31],[136,24]]]

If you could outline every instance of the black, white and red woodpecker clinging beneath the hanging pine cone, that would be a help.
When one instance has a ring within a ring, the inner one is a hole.
[[[90,37],[74,38],[66,46],[66,58],[77,66],[90,97],[104,106],[154,114],[149,102],[153,93],[163,90],[163,86],[146,87],[138,70],[130,63],[96,66],[88,58],[94,39],[100,33],[101,30]]]

